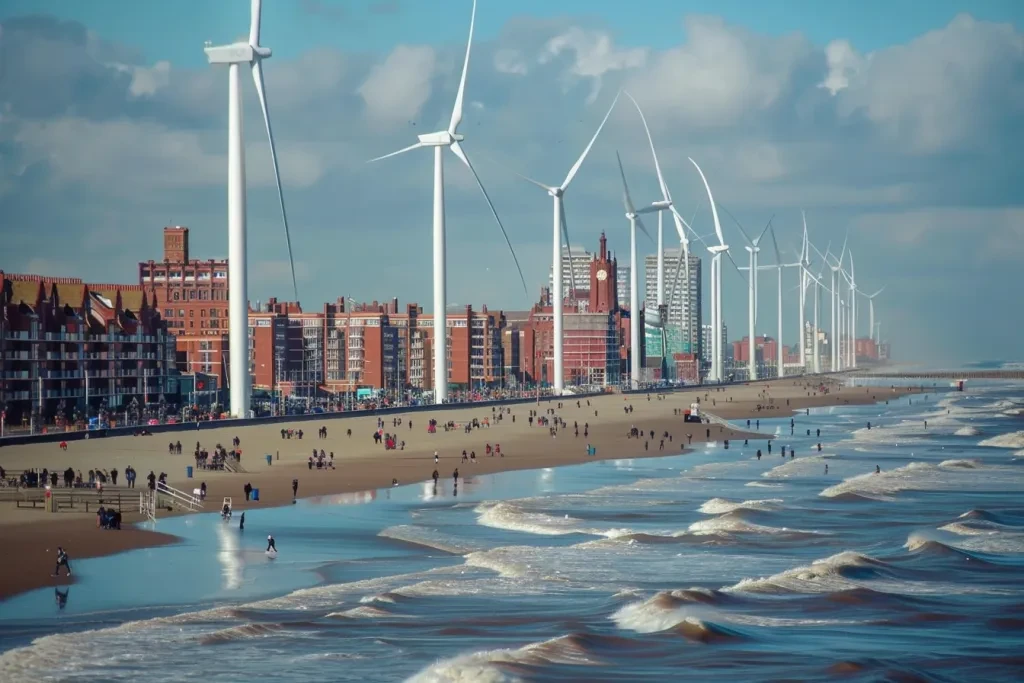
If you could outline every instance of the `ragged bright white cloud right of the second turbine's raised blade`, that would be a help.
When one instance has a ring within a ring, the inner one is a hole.
[[[647,50],[643,48],[618,49],[612,44],[611,36],[603,31],[572,27],[549,40],[538,61],[547,63],[565,51],[574,54],[569,78],[591,81],[588,103],[593,102],[601,92],[602,79],[606,74],[636,69],[647,60]]]

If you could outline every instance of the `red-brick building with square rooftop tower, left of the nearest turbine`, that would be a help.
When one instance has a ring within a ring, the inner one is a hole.
[[[226,386],[227,260],[191,258],[188,228],[165,227],[163,258],[138,264],[138,284],[161,302],[177,338],[178,370],[215,375]]]

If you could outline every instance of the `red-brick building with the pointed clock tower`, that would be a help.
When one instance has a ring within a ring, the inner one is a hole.
[[[623,381],[629,361],[632,323],[620,305],[618,263],[602,233],[598,254],[588,272],[589,297],[579,307],[563,302],[563,371],[566,385],[614,385]],[[638,311],[642,324],[642,311]],[[643,349],[638,349],[640,353]],[[554,382],[554,302],[550,290],[529,311],[519,335],[520,372],[524,381]]]

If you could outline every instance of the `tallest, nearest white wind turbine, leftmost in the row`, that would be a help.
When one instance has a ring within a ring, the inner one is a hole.
[[[270,142],[270,161],[273,163],[273,178],[278,183],[278,199],[281,202],[281,218],[285,224],[285,242],[288,245],[288,262],[292,272],[292,291],[298,300],[295,282],[295,259],[292,256],[292,238],[288,231],[288,213],[285,211],[285,195],[281,188],[281,171],[278,168],[278,153],[273,145],[270,128],[270,113],[266,105],[266,89],[263,86],[263,59],[271,55],[268,47],[259,44],[260,0],[252,0],[249,15],[249,40],[230,45],[205,48],[211,65],[227,65],[227,275],[228,275],[228,387],[230,390],[230,412],[233,417],[249,417],[251,398],[249,384],[249,285],[248,259],[246,253],[246,160],[242,138],[242,93],[239,81],[239,65],[249,65],[252,70],[256,94],[266,136]]]

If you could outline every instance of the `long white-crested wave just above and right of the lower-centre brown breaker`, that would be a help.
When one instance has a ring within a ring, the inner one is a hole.
[[[853,551],[844,551],[809,565],[761,579],[743,579],[723,588],[727,593],[838,593],[859,588],[858,580],[888,573],[890,565]]]

